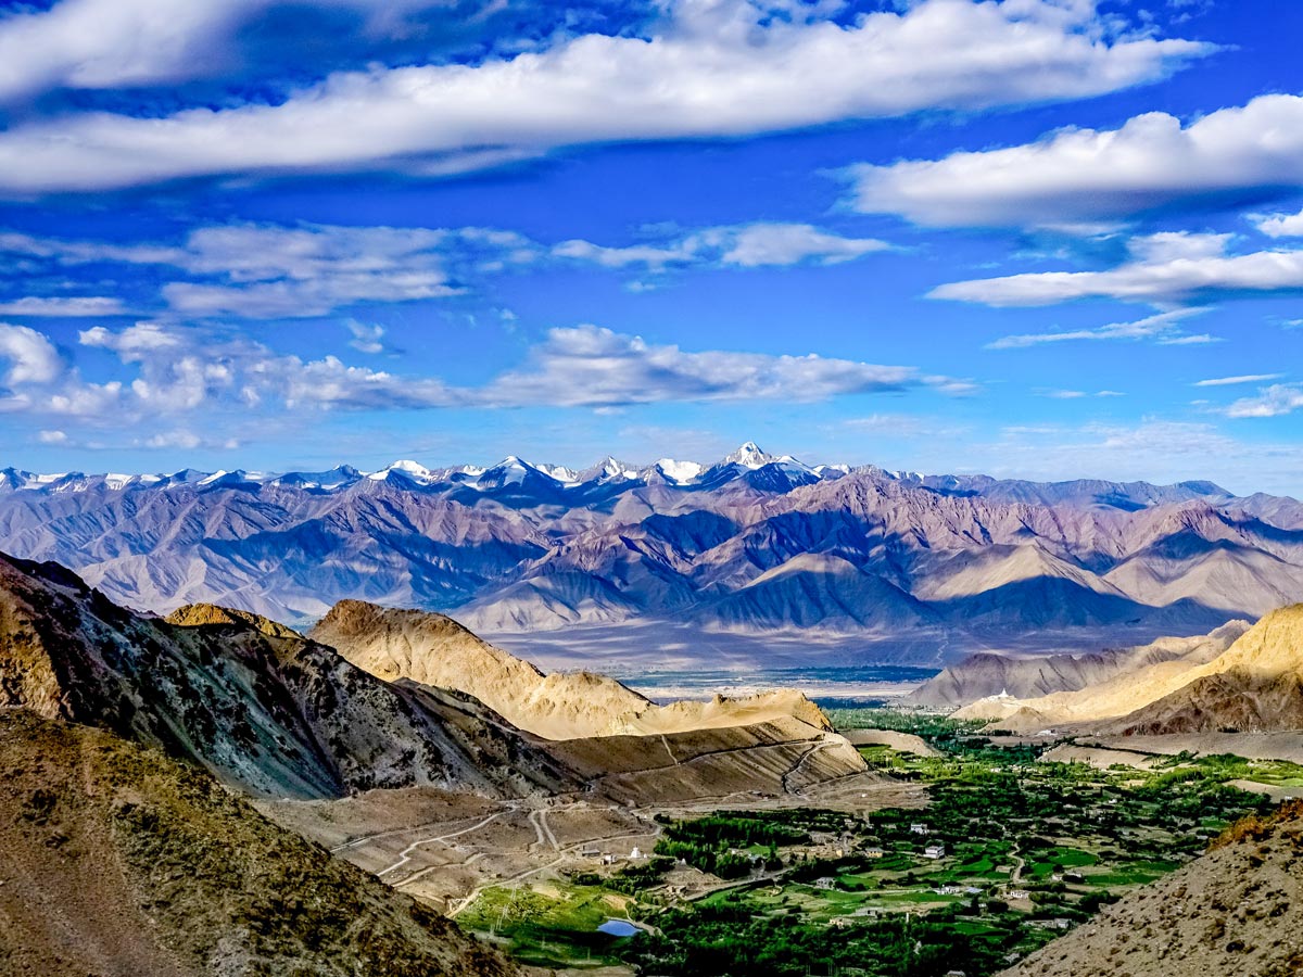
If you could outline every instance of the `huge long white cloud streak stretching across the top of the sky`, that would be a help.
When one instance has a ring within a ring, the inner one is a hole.
[[[1153,81],[1212,50],[1118,34],[1084,0],[923,0],[846,26],[827,20],[835,7],[667,0],[646,38],[590,34],[474,65],[337,73],[279,104],[29,122],[0,133],[0,188],[93,190],[321,168],[439,175],[612,139],[745,135],[1084,98]],[[159,20],[167,23],[165,13]],[[154,57],[152,36],[128,34],[111,50],[165,77],[189,47],[158,46]],[[57,44],[40,48],[36,64],[47,56],[64,65],[56,76],[69,74]]]

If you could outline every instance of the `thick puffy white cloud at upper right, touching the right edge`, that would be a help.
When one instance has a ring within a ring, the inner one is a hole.
[[[853,206],[934,227],[1097,224],[1214,194],[1303,184],[1303,96],[1263,95],[1182,126],[1121,129],[847,171]]]

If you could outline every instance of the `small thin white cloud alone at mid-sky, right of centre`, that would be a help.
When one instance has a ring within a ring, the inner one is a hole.
[[[872,237],[842,237],[810,224],[754,223],[694,231],[662,244],[606,248],[590,241],[563,241],[552,255],[607,268],[642,266],[663,271],[670,266],[774,267],[816,262],[838,264],[890,248]]]

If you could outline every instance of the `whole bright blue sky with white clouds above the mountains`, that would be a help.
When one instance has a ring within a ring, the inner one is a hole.
[[[0,464],[1303,491],[1296,5],[0,12]]]

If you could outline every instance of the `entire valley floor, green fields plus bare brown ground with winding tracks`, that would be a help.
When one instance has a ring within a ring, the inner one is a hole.
[[[943,718],[834,715],[889,727],[853,736],[869,774],[805,783],[807,744],[774,752],[773,791],[261,806],[549,970],[985,977],[1190,862],[1267,795],[1303,788],[1289,761],[995,746]],[[665,746],[657,775],[672,770]],[[636,933],[598,931],[612,920]]]

